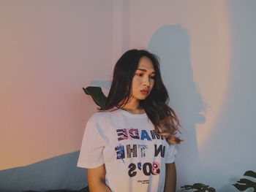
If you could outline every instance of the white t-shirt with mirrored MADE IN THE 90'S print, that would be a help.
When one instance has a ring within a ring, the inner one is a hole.
[[[162,192],[165,164],[173,163],[176,153],[146,113],[97,112],[86,124],[78,166],[105,164],[105,182],[113,192]]]

